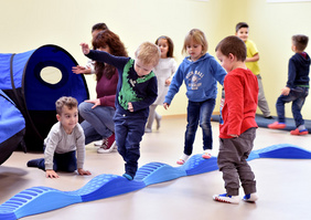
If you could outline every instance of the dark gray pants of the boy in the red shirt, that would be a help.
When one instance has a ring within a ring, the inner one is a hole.
[[[221,138],[217,164],[229,196],[238,196],[239,180],[245,195],[256,192],[255,175],[246,161],[255,137],[256,128],[251,127],[239,137]]]

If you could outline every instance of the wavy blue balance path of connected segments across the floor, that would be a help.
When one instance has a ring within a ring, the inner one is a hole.
[[[311,159],[311,151],[294,145],[272,145],[253,150],[248,160],[258,158]],[[180,177],[217,170],[217,158],[203,159],[202,154],[192,156],[183,166],[172,167],[150,163],[140,167],[132,181],[117,175],[99,175],[75,191],[60,191],[47,187],[25,189],[0,206],[0,220],[15,220],[69,205],[105,199],[142,189],[149,185]]]

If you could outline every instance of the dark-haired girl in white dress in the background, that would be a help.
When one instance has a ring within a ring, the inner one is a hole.
[[[169,91],[172,81],[172,75],[176,71],[176,62],[173,59],[174,44],[173,41],[165,35],[157,39],[156,44],[161,50],[161,59],[159,64],[154,67],[153,72],[158,81],[158,97],[156,102],[149,107],[149,117],[144,132],[152,132],[152,124],[156,118],[157,129],[160,128],[162,116],[156,112],[158,105],[162,105],[164,97]]]

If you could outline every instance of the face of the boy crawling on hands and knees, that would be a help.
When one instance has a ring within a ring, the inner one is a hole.
[[[57,114],[56,118],[61,122],[67,134],[71,134],[78,123],[78,111],[77,107],[69,109],[66,105],[63,106],[61,115]]]

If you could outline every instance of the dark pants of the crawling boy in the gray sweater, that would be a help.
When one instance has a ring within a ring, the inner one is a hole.
[[[39,168],[45,170],[44,158],[39,161]],[[54,153],[53,170],[54,171],[68,171],[73,172],[77,169],[76,150],[65,154]]]

